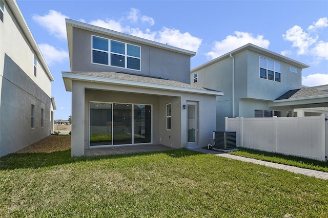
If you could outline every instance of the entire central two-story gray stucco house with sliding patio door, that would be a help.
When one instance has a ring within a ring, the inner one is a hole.
[[[206,146],[223,93],[190,85],[195,52],[66,19],[72,156],[122,145]]]

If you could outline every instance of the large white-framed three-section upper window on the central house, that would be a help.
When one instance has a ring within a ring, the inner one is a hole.
[[[92,63],[140,70],[140,46],[92,36]]]

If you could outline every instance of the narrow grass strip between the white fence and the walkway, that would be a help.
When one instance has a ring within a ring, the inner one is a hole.
[[[323,172],[328,172],[328,162],[312,160],[308,158],[300,158],[296,156],[287,156],[273,152],[265,152],[249,148],[238,147],[237,151],[230,151],[229,154],[237,155],[257,160],[270,161],[290,166],[297,166],[306,169],[314,169]]]

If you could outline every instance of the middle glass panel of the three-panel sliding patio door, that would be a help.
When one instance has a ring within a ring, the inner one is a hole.
[[[113,144],[132,144],[131,104],[113,105]]]

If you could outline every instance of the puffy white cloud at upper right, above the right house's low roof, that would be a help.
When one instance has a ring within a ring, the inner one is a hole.
[[[312,55],[315,62],[322,59],[328,59],[328,42],[319,40],[319,30],[328,27],[328,18],[319,18],[310,25],[305,31],[302,27],[295,25],[286,31],[282,37],[286,41],[291,41],[292,47],[296,48],[298,55]],[[324,40],[327,40],[325,37]]]

